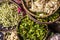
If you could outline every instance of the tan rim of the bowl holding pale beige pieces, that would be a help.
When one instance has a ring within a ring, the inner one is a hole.
[[[27,1],[27,0],[26,0],[26,1]],[[26,10],[26,12],[27,12],[28,14],[30,14],[30,15],[32,15],[32,16],[34,16],[34,17],[38,17],[38,16],[35,15],[33,12],[29,11],[29,9],[28,9],[28,8],[26,7],[26,5],[25,5],[24,0],[21,0],[21,3],[22,3],[24,9]],[[49,14],[49,15],[45,15],[45,16],[43,16],[43,17],[39,17],[39,18],[46,18],[46,17],[54,14],[58,9],[59,9],[59,7],[58,7],[53,13],[51,13],[51,14]]]

